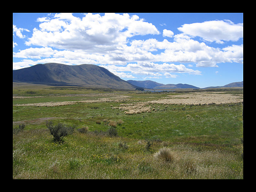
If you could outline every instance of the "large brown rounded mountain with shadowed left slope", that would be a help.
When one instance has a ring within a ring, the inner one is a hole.
[[[28,68],[12,70],[12,81],[59,86],[78,85],[129,90],[137,88],[137,86],[124,81],[107,69],[89,64],[37,64]]]

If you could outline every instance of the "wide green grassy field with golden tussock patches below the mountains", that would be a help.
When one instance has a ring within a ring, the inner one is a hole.
[[[241,88],[13,84],[12,100],[13,179],[243,179]],[[50,121],[75,129],[54,142]]]

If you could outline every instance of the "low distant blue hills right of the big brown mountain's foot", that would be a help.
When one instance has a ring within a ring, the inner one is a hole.
[[[177,89],[177,88],[181,88],[181,89],[185,89],[185,88],[193,88],[193,89],[200,89],[199,87],[195,87],[193,85],[188,85],[188,84],[161,84],[161,83],[157,83],[155,81],[134,81],[134,80],[128,80],[127,82],[139,86],[139,87],[143,87],[143,88],[147,88],[147,89]]]

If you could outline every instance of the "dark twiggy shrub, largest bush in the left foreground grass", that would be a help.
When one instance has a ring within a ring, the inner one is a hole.
[[[63,123],[58,123],[57,125],[54,125],[52,121],[47,121],[46,127],[52,134],[54,142],[62,142],[63,138],[67,135],[71,135],[75,129],[75,126],[66,126]]]

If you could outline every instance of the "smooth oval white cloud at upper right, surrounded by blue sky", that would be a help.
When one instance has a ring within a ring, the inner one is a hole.
[[[223,44],[223,41],[237,41],[244,37],[243,23],[234,24],[230,20],[205,21],[184,24],[178,28],[184,34],[202,37],[205,41]]]

